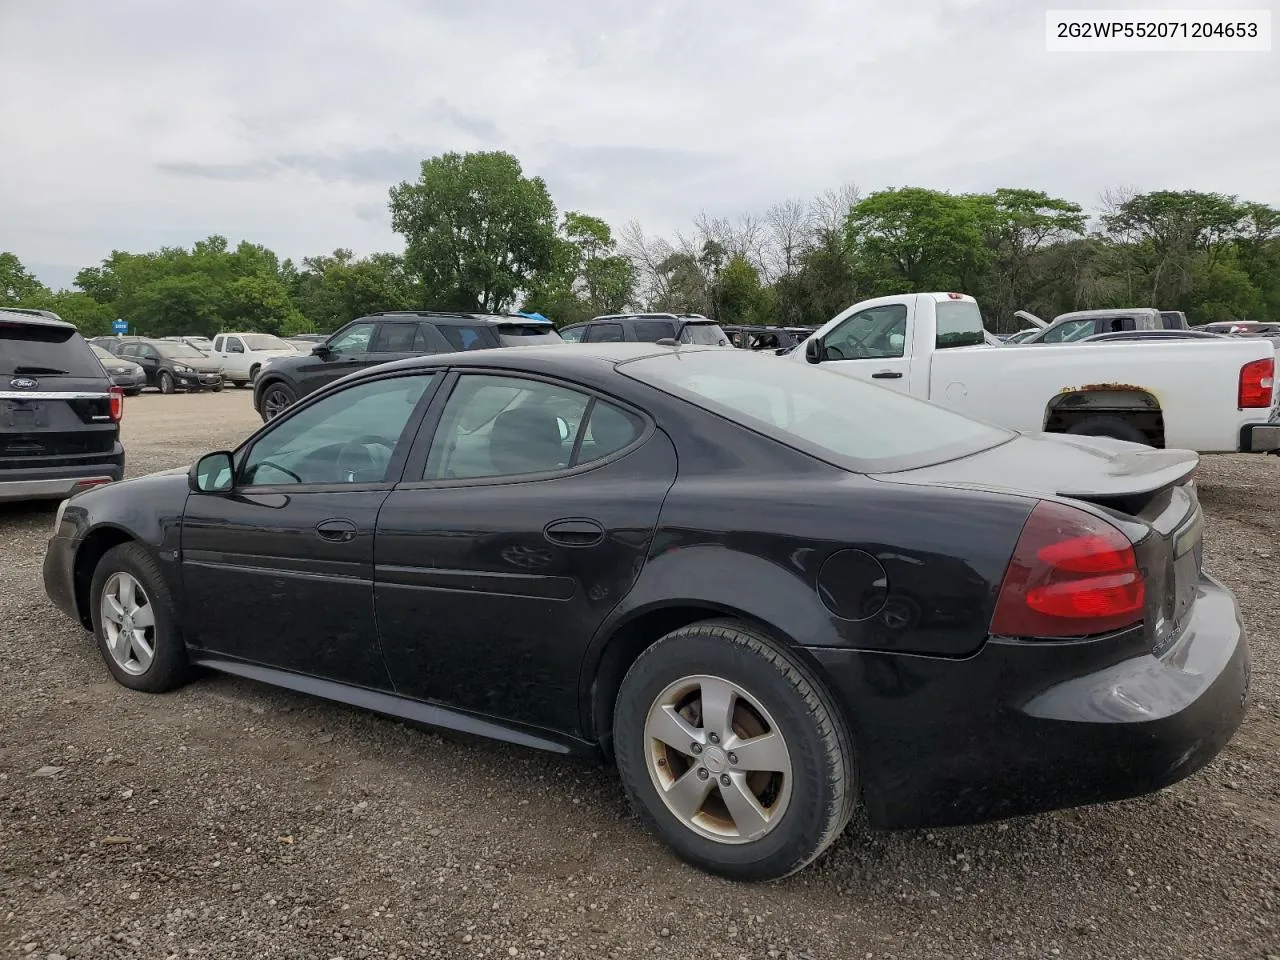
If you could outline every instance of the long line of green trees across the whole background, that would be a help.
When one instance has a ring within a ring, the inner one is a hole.
[[[282,259],[209,237],[113,251],[51,291],[0,252],[0,305],[42,307],[87,335],[123,317],[150,335],[328,333],[381,310],[538,311],[558,324],[643,308],[723,324],[819,324],[850,303],[963,291],[988,328],[1015,310],[1153,306],[1192,323],[1280,319],[1280,210],[1221,193],[1107,191],[1098,209],[1044,192],[948,193],[854,184],[687,230],[617,236],[561,214],[545,182],[504,152],[443,154],[390,188],[403,253]]]

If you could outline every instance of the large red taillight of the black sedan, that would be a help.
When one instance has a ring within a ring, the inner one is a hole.
[[[1041,502],[1023,526],[991,632],[1068,637],[1142,621],[1147,589],[1129,538],[1083,509]]]

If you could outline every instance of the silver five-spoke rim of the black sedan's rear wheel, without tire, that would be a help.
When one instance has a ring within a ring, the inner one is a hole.
[[[769,712],[737,684],[690,676],[653,701],[644,726],[649,776],[689,829],[722,844],[756,841],[791,800],[791,754]]]

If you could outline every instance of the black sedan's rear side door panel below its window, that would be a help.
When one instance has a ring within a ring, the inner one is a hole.
[[[675,477],[675,448],[652,433],[576,475],[392,493],[374,594],[397,691],[576,731],[584,652],[635,582]],[[596,543],[548,539],[588,517]]]

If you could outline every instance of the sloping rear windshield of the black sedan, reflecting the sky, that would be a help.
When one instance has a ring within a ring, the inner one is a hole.
[[[746,351],[672,352],[618,371],[845,470],[942,463],[1014,434],[846,374]]]

